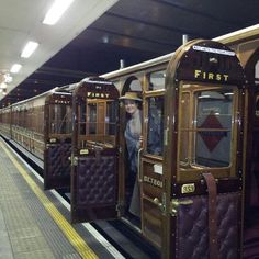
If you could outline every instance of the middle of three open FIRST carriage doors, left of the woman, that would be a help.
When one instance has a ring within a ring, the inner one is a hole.
[[[117,215],[119,92],[102,78],[82,80],[72,94],[71,221]]]

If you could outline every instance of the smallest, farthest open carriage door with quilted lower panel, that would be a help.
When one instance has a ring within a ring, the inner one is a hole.
[[[54,92],[44,111],[44,189],[70,187],[71,93]]]

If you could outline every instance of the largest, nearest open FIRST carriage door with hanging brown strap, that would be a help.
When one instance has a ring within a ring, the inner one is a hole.
[[[166,75],[162,258],[241,258],[244,71],[212,41],[183,45]]]

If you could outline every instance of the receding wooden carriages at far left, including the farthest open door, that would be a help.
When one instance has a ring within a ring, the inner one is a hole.
[[[71,93],[55,88],[1,109],[1,134],[44,162],[44,187],[69,188]],[[70,86],[71,88],[71,86]]]

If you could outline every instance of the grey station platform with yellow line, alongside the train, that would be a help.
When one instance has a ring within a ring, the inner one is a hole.
[[[69,210],[0,138],[0,259],[124,258]]]

